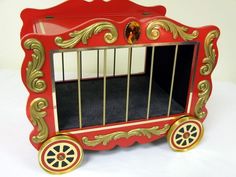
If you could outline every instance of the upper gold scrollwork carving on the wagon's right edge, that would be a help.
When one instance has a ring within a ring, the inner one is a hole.
[[[213,48],[213,40],[215,38],[218,38],[220,36],[220,32],[218,30],[211,31],[208,33],[204,48],[205,48],[205,54],[206,58],[203,59],[204,65],[201,67],[200,73],[201,75],[209,75],[215,66],[215,60],[216,60],[216,51]]]

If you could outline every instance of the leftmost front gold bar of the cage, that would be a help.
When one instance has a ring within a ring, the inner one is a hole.
[[[77,51],[77,78],[78,78],[79,127],[82,128],[82,110],[81,110],[81,51]]]

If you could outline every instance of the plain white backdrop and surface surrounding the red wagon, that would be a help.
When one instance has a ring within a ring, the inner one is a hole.
[[[27,92],[20,78],[24,53],[20,47],[20,12],[46,8],[62,0],[0,0],[0,173],[1,176],[49,176],[37,163],[29,143],[32,127],[25,115]],[[165,139],[127,149],[86,152],[82,166],[65,176],[236,176],[236,1],[135,0],[164,5],[167,16],[189,26],[217,25],[221,29],[219,63],[213,74],[213,94],[207,104],[201,144],[187,152],[170,150]],[[121,0],[122,3],[122,0]]]

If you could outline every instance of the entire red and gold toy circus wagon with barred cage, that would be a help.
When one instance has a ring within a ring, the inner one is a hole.
[[[165,136],[176,151],[199,143],[220,32],[165,13],[128,0],[70,0],[22,12],[30,141],[43,169],[65,173],[83,150]]]

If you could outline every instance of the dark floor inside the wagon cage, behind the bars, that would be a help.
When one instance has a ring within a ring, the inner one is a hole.
[[[107,78],[106,124],[124,122],[126,117],[127,77]],[[103,123],[103,79],[81,81],[82,126]],[[128,119],[139,120],[147,116],[149,77],[131,76]],[[167,115],[169,93],[152,83],[149,117]],[[56,83],[59,129],[78,128],[78,82]],[[172,99],[171,114],[184,112],[184,107]]]

